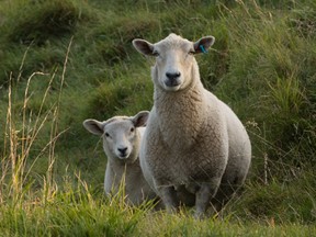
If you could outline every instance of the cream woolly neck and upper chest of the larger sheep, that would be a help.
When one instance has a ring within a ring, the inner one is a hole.
[[[201,81],[177,92],[167,92],[160,88],[155,90],[155,108],[166,145],[179,150],[190,148],[196,143],[201,123],[205,121]]]

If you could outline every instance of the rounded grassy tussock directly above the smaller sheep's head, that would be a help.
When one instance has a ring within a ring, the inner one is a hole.
[[[136,75],[135,69],[126,68],[126,70],[127,75],[119,72],[114,80],[110,78],[100,83],[88,102],[86,116],[106,120],[113,115],[132,115],[137,111],[150,109],[153,97],[150,79]]]

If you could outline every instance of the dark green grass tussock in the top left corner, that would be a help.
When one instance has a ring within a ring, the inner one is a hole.
[[[14,22],[8,33],[10,41],[43,45],[47,40],[74,33],[78,22],[90,16],[71,0],[54,0],[27,1],[23,8],[18,5],[11,18]]]

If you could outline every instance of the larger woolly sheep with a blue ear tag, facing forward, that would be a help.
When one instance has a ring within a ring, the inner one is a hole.
[[[142,142],[140,167],[167,211],[193,202],[198,218],[207,210],[223,208],[242,185],[251,160],[244,125],[200,79],[194,55],[205,53],[214,42],[213,36],[193,43],[176,34],[155,44],[133,41],[139,53],[156,57],[154,106]]]

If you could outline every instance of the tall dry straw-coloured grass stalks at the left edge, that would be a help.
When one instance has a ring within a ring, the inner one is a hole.
[[[61,93],[61,88],[65,80],[65,70],[68,60],[69,47],[66,55],[66,60],[64,63],[59,93]],[[21,67],[23,67],[24,59],[25,57],[23,58]],[[4,140],[0,187],[1,194],[3,193],[3,195],[5,194],[4,196],[12,198],[13,200],[23,200],[24,187],[33,182],[32,180],[30,180],[30,172],[32,170],[32,167],[41,157],[48,156],[45,183],[52,184],[53,165],[55,162],[55,144],[57,138],[63,134],[63,131],[59,132],[57,128],[60,97],[58,98],[55,105],[53,105],[47,111],[43,111],[50,86],[55,79],[55,75],[50,77],[48,87],[43,94],[38,111],[36,111],[37,113],[33,114],[33,111],[29,111],[29,102],[32,98],[32,93],[30,93],[30,84],[36,75],[44,74],[34,72],[29,77],[24,91],[21,112],[14,110],[13,106],[15,102],[15,94],[14,90],[12,89],[12,78],[10,78],[11,83],[9,84],[8,91],[7,124],[5,128],[3,129]],[[18,77],[18,82],[19,81],[20,78]],[[19,119],[21,119],[21,121]],[[52,123],[48,123],[49,120],[52,120]],[[49,140],[44,147],[42,147],[37,155],[32,157],[32,149],[34,149],[34,144],[36,143],[36,139],[40,136],[38,134],[41,134],[44,126],[50,127]],[[32,157],[32,160],[30,160],[30,157]],[[8,180],[10,183],[9,185]]]

